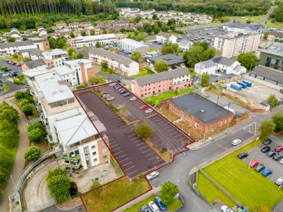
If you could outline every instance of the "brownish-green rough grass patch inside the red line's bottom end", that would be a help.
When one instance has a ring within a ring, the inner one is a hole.
[[[82,195],[81,199],[87,211],[112,211],[150,189],[144,178],[130,182],[127,177],[123,177]]]

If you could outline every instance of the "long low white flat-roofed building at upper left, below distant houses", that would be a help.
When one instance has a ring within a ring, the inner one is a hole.
[[[87,47],[96,46],[97,41],[100,44],[103,43],[115,43],[117,42],[117,37],[115,34],[105,34],[105,35],[92,35],[92,36],[79,36],[77,38],[71,39],[72,48],[82,48],[83,45]]]

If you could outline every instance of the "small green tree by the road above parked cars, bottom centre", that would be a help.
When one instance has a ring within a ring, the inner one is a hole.
[[[162,203],[165,205],[170,205],[174,201],[178,192],[179,189],[175,183],[172,183],[170,181],[166,181],[165,183],[163,183],[160,190],[160,197],[162,199]]]

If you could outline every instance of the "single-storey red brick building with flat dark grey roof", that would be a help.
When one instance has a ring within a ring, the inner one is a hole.
[[[230,123],[234,117],[233,113],[196,93],[173,98],[168,106],[175,115],[204,134]]]

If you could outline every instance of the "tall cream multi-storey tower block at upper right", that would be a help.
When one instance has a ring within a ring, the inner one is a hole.
[[[214,47],[222,52],[223,57],[231,58],[242,52],[254,52],[258,48],[261,33],[229,32],[227,35],[217,35]]]

